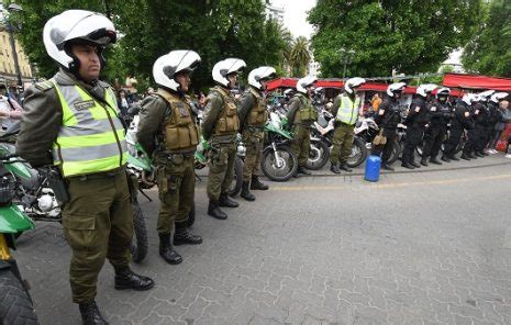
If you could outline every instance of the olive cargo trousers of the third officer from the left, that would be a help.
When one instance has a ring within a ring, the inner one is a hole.
[[[220,194],[227,193],[234,177],[234,162],[236,161],[236,143],[211,144],[209,153],[208,198],[218,201]]]

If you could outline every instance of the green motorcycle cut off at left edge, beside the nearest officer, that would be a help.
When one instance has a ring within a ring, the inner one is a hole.
[[[33,221],[12,203],[16,178],[0,159],[0,324],[38,324],[29,285],[23,280],[11,249],[18,236],[33,229]]]

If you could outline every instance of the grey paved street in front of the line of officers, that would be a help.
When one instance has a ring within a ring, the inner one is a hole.
[[[399,169],[378,183],[362,167],[338,177],[327,167],[268,182],[226,221],[205,215],[198,182],[193,231],[204,244],[178,247],[179,266],[157,255],[157,201],[141,198],[151,247],[133,268],[157,285],[115,291],[105,266],[103,314],[114,325],[511,324],[511,159]],[[37,223],[16,257],[42,324],[80,324],[60,226]]]

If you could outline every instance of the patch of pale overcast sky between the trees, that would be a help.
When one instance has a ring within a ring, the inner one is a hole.
[[[312,25],[307,22],[307,11],[315,5],[316,0],[273,0],[276,7],[285,10],[284,24],[295,37],[311,37]]]

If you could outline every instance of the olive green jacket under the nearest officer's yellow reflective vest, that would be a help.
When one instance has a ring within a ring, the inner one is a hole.
[[[75,76],[60,69],[54,79],[59,85],[79,85],[95,99],[105,103],[107,82],[98,80],[91,85],[78,81]],[[60,131],[63,109],[60,100],[51,81],[38,82],[25,91],[23,102],[25,113],[21,120],[21,130],[16,141],[16,155],[33,167],[53,165],[52,147]]]

